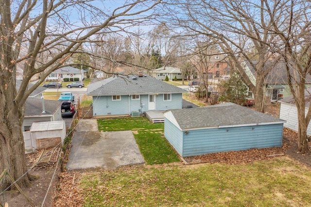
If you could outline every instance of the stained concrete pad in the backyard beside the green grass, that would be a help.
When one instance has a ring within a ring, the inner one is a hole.
[[[80,120],[72,138],[67,168],[79,170],[144,163],[132,131],[99,132],[94,119]]]

